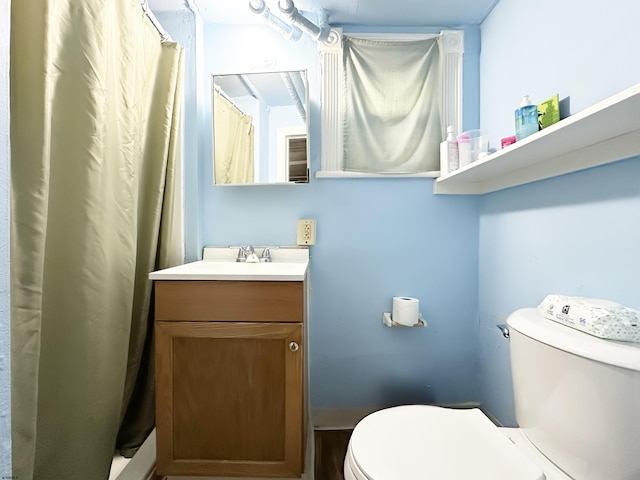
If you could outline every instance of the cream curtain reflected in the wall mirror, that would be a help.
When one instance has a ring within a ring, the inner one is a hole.
[[[253,183],[253,117],[214,91],[213,118],[216,184]]]

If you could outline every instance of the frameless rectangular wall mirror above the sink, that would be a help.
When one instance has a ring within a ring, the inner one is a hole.
[[[213,75],[215,185],[309,182],[304,70]]]

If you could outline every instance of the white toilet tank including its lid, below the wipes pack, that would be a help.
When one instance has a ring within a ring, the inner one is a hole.
[[[640,344],[604,340],[535,308],[507,319],[516,420],[577,480],[640,479]]]

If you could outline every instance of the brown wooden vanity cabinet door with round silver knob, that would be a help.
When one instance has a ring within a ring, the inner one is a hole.
[[[302,324],[155,328],[158,474],[299,477]]]

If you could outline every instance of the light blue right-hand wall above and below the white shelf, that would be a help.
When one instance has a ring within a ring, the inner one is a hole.
[[[481,128],[513,135],[523,94],[576,113],[640,81],[640,4],[501,0],[482,25]],[[499,144],[499,143],[497,143]],[[640,158],[485,195],[480,203],[482,399],[515,424],[508,343],[495,328],[548,293],[640,308]]]

